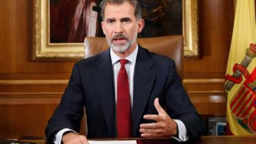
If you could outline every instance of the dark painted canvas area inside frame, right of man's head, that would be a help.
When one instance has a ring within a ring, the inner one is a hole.
[[[143,0],[141,37],[182,35],[182,0]]]

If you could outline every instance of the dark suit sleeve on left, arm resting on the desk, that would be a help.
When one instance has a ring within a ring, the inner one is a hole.
[[[61,129],[80,131],[83,116],[84,92],[77,64],[74,65],[68,86],[61,97],[60,105],[54,111],[45,129],[47,140],[52,141],[54,134]]]

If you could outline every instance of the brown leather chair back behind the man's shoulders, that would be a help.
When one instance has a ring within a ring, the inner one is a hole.
[[[182,35],[138,38],[137,42],[151,52],[172,58],[175,61],[180,80],[183,80],[184,45]],[[106,38],[86,37],[84,39],[85,58],[106,51],[108,47]]]

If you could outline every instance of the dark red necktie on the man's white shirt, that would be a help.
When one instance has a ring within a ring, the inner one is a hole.
[[[118,138],[130,138],[132,136],[131,99],[128,75],[125,70],[125,63],[127,63],[128,60],[122,59],[119,61],[121,63],[121,68],[117,77],[117,136]]]

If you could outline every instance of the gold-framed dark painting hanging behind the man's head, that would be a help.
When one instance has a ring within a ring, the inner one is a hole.
[[[100,0],[33,1],[33,61],[84,58],[85,36],[104,36]],[[185,58],[198,58],[198,0],[141,0],[140,37],[183,35]],[[83,31],[83,33],[81,33]]]

